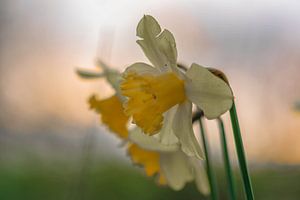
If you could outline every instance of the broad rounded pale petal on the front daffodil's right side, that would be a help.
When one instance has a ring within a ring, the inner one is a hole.
[[[186,76],[186,95],[208,119],[215,119],[228,111],[233,103],[230,87],[206,68],[192,64]]]

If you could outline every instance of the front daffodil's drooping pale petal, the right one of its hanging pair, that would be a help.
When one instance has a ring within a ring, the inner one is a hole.
[[[185,101],[178,106],[173,120],[173,131],[181,144],[181,149],[188,156],[203,158],[203,152],[197,141],[192,125],[192,103]]]

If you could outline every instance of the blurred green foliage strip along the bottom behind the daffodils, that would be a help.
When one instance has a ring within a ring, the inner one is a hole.
[[[1,200],[200,200],[193,183],[181,191],[158,187],[142,171],[120,161],[68,165],[28,161],[18,167],[0,167]],[[300,197],[300,167],[272,167],[251,170],[256,199],[293,200]],[[224,172],[217,170],[221,199],[227,199]],[[236,177],[239,198],[241,180]]]

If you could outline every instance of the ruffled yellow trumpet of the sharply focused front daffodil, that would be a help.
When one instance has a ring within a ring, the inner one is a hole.
[[[185,100],[184,81],[173,72],[161,75],[128,73],[121,84],[122,94],[129,99],[125,113],[144,133],[157,133],[163,113]]]

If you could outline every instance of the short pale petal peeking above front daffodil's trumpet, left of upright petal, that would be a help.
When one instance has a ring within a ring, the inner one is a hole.
[[[126,76],[126,74],[130,72],[135,72],[139,75],[143,75],[143,74],[158,75],[160,73],[159,70],[157,70],[156,68],[142,62],[137,62],[127,67],[124,72],[124,75]]]

